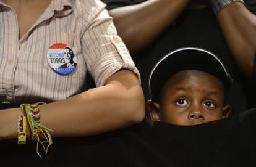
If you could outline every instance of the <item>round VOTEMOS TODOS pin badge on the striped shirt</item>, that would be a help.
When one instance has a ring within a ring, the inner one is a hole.
[[[73,49],[63,43],[55,43],[50,46],[47,59],[51,69],[61,75],[72,73],[77,66]]]

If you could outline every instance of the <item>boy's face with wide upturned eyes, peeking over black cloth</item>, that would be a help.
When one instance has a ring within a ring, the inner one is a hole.
[[[198,70],[184,70],[164,84],[160,104],[148,102],[152,120],[193,125],[226,118],[224,88],[215,76]]]

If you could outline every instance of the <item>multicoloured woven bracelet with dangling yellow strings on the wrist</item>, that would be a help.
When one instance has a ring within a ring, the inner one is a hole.
[[[25,122],[27,124],[28,137],[32,141],[34,140],[37,141],[36,153],[38,154],[39,157],[41,157],[40,153],[38,152],[39,143],[43,147],[45,154],[47,154],[49,146],[53,144],[53,141],[51,139],[51,134],[49,133],[49,131],[52,131],[52,130],[47,128],[46,126],[39,124],[40,123],[40,110],[38,106],[39,104],[45,104],[45,103],[38,102],[35,104],[21,104],[20,109],[21,109],[23,118],[25,118],[26,120]],[[45,143],[46,143],[46,147],[45,147]]]

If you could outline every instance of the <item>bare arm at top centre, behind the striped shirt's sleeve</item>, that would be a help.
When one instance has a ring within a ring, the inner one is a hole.
[[[109,10],[129,51],[151,43],[184,10],[190,0],[148,0]]]

